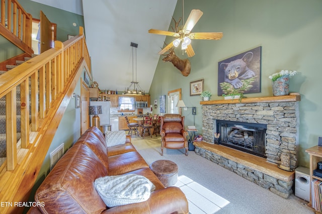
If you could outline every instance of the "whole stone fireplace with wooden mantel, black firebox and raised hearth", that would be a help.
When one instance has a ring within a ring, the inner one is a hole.
[[[293,93],[287,96],[243,98],[241,102],[201,101],[204,142],[195,143],[195,152],[287,198],[292,193],[293,171],[297,166],[299,100],[300,95]],[[256,136],[258,131],[262,131],[262,136]],[[215,138],[220,132],[219,138]],[[255,142],[257,137],[256,141],[262,142]],[[226,144],[231,148],[225,149],[216,144]],[[261,150],[260,154],[255,154],[257,151],[254,153],[257,148]],[[235,149],[241,152],[234,152]],[[244,152],[251,154],[247,157],[252,161],[243,159]],[[282,153],[291,157],[291,172],[278,167]],[[235,157],[234,154],[241,155]],[[253,157],[254,154],[259,157]]]

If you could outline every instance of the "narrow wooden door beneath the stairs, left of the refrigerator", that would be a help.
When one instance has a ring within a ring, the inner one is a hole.
[[[81,87],[81,135],[84,134],[88,128],[90,128],[90,115],[89,115],[89,105],[90,105],[90,90],[86,83],[82,81]]]

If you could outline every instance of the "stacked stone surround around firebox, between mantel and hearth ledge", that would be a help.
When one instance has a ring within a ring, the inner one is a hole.
[[[291,169],[297,165],[298,102],[207,104],[202,106],[203,140],[214,143],[215,121],[267,124],[267,161],[280,164],[281,153],[291,154]]]

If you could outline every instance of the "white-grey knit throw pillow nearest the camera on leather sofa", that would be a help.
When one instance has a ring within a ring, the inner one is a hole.
[[[137,174],[100,177],[94,186],[108,207],[146,201],[155,190],[151,181]]]

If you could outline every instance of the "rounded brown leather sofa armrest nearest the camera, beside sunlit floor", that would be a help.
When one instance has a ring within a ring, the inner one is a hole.
[[[181,189],[171,186],[151,192],[144,202],[115,206],[103,213],[189,213],[189,207]]]

